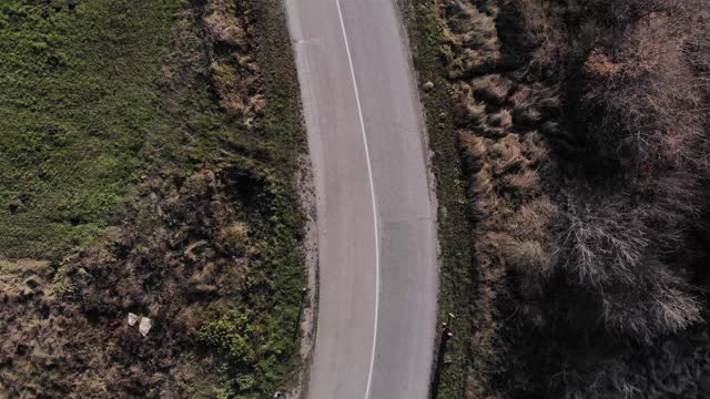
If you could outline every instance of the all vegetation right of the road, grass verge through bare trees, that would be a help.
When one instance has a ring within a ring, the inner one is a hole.
[[[442,397],[710,396],[708,3],[412,6],[475,270]]]

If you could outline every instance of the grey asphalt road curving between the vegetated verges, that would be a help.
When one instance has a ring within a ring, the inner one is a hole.
[[[435,206],[394,0],[286,0],[318,211],[308,397],[426,398]]]

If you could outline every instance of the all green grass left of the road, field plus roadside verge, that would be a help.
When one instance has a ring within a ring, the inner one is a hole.
[[[256,201],[270,198],[265,214],[244,215],[264,242],[252,266],[258,289],[245,287],[241,314],[215,315],[201,329],[202,342],[224,359],[223,393],[250,398],[293,383],[305,284],[293,182],[304,142],[291,44],[278,1],[252,4],[267,100],[253,121],[216,104],[202,43],[174,39],[194,29],[179,18],[189,1],[0,4],[0,259],[58,259],[100,245],[151,178],[253,167],[266,181]],[[240,345],[250,356],[234,360]]]

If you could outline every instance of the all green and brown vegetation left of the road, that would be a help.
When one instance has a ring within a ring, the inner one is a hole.
[[[271,0],[1,2],[1,398],[293,385],[304,145],[285,27]]]

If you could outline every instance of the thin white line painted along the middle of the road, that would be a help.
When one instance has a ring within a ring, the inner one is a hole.
[[[369,371],[367,374],[367,388],[365,389],[365,399],[369,398],[369,388],[373,382],[373,368],[375,367],[375,348],[377,346],[377,317],[379,313],[379,233],[377,229],[377,203],[375,201],[375,183],[373,181],[373,167],[369,162],[369,146],[367,145],[367,133],[365,132],[365,120],[363,117],[363,106],[359,101],[359,90],[357,89],[357,79],[355,78],[355,66],[353,66],[353,55],[351,54],[351,45],[347,42],[347,32],[345,31],[345,22],[343,21],[343,10],[341,10],[341,1],[335,0],[337,6],[337,16],[341,19],[341,28],[343,29],[343,40],[345,41],[345,51],[347,52],[347,62],[351,66],[351,78],[353,79],[353,88],[355,89],[355,102],[357,103],[357,114],[359,116],[361,132],[363,133],[363,143],[365,144],[365,158],[367,161],[367,175],[369,177],[369,193],[373,201],[373,219],[375,223],[375,325],[373,327],[373,352],[369,358]]]

